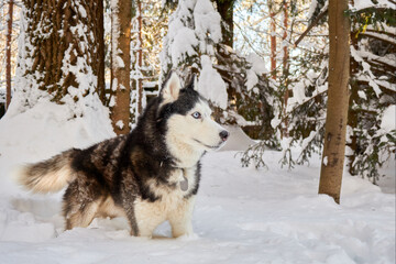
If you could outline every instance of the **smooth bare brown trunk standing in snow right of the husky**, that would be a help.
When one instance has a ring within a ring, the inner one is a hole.
[[[349,106],[350,21],[346,0],[329,1],[329,89],[319,194],[340,202]]]

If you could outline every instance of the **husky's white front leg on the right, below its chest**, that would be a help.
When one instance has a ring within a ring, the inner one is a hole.
[[[174,238],[182,235],[193,235],[193,210],[195,196],[183,200],[174,210],[170,211],[168,220],[172,227]]]

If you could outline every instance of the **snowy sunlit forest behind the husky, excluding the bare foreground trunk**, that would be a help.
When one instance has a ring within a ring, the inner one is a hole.
[[[128,133],[176,69],[184,81],[198,76],[217,121],[260,140],[243,165],[265,166],[263,152],[275,148],[292,168],[323,146],[328,7],[326,0],[1,0],[0,116],[45,98],[69,106],[70,119],[100,108],[116,133]],[[374,184],[396,150],[395,10],[393,0],[364,0],[350,1],[345,12],[346,166]]]

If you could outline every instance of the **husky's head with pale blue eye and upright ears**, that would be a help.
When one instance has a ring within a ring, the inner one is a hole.
[[[177,158],[190,151],[218,150],[227,141],[229,132],[211,119],[211,109],[196,90],[195,78],[182,88],[178,76],[170,73],[160,97],[160,116],[166,120],[165,141]]]

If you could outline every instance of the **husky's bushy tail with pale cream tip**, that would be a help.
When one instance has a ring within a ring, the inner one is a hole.
[[[76,174],[72,169],[75,150],[61,153],[50,160],[22,167],[16,179],[33,193],[56,193],[72,183]]]

